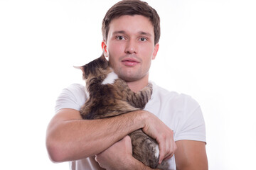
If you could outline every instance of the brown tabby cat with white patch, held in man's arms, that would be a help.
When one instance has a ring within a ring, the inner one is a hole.
[[[96,60],[81,66],[85,91],[89,98],[80,109],[83,119],[101,119],[138,111],[146,106],[151,98],[152,84],[134,93],[127,83],[119,79],[102,54]],[[159,145],[142,129],[129,134],[132,140],[132,156],[152,169],[168,169],[168,163],[159,162]]]

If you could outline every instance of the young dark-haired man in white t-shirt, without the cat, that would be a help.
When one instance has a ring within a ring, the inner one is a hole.
[[[103,19],[102,51],[132,91],[149,83],[151,60],[159,49],[159,22],[154,8],[139,0],[120,1]],[[68,161],[70,169],[77,170],[150,169],[132,157],[127,136],[142,128],[159,142],[159,163],[168,159],[170,169],[208,169],[203,115],[191,97],[153,83],[153,94],[144,111],[82,120],[79,110],[86,98],[84,86],[79,84],[60,94],[46,136],[53,162]]]

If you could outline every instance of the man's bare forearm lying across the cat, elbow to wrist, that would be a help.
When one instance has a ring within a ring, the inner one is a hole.
[[[68,113],[59,113],[56,116],[60,118],[53,118],[48,127],[46,145],[50,158],[65,162],[99,154],[130,132],[143,128],[143,112],[100,120],[69,119],[65,116]]]

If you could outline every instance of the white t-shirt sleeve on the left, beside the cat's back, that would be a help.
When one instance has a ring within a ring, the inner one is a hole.
[[[87,95],[85,86],[80,84],[72,84],[68,88],[63,89],[56,100],[55,113],[62,108],[73,108],[80,111],[80,108],[85,103]]]

